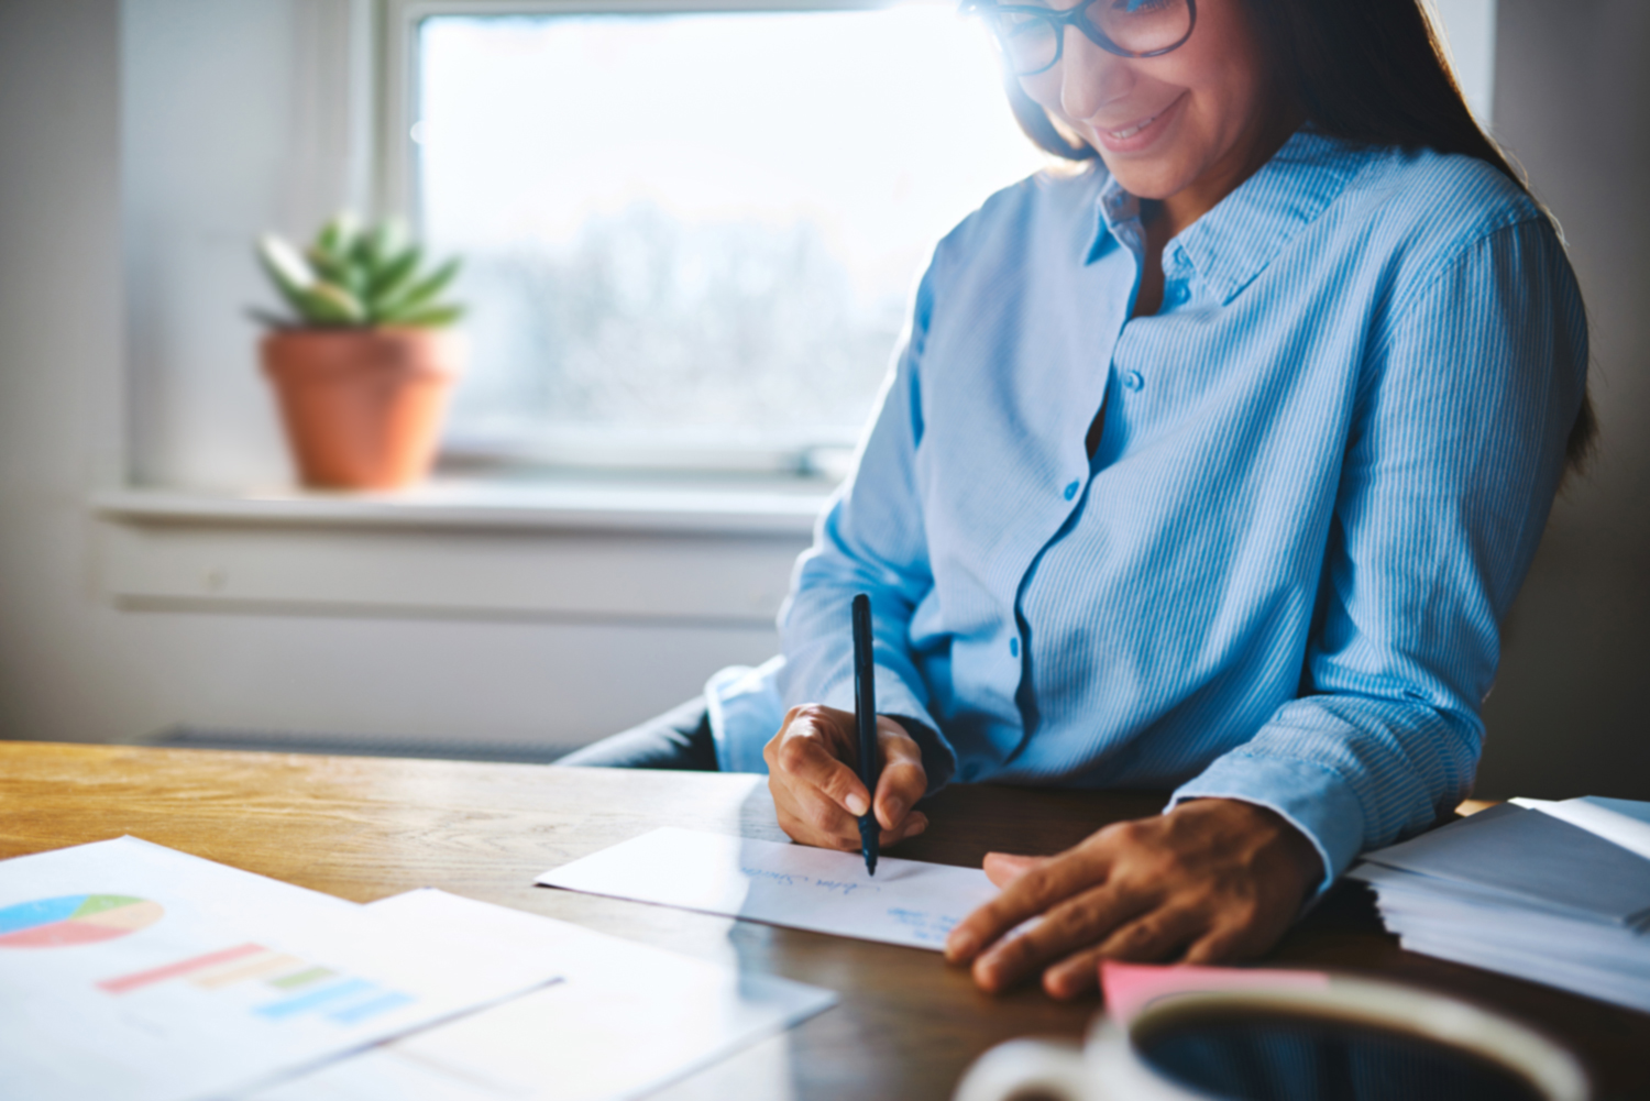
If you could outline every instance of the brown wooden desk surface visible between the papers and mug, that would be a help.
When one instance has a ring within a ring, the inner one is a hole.
[[[988,848],[1054,852],[1162,796],[957,786],[901,857],[978,867]],[[533,886],[546,868],[658,825],[782,840],[757,776],[0,743],[0,857],[132,834],[353,901],[416,886],[837,990],[842,1004],[658,1094],[949,1098],[964,1066],[1018,1035],[1081,1033],[1094,999],[980,994],[916,949]],[[1650,1017],[1398,949],[1341,885],[1274,962],[1401,977],[1523,1017],[1571,1043],[1604,1098],[1650,1096]]]

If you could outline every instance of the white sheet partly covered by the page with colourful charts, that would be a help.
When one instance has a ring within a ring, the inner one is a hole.
[[[408,929],[553,962],[564,982],[406,1037],[248,1101],[596,1101],[650,1093],[835,1004],[576,924],[442,891],[368,906]]]

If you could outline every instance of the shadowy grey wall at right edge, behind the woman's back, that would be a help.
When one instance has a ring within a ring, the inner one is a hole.
[[[1650,5],[1500,0],[1495,64],[1495,132],[1587,300],[1600,434],[1508,622],[1478,791],[1650,799]]]

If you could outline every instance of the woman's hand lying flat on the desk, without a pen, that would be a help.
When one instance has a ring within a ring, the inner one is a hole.
[[[1300,913],[1323,862],[1274,810],[1193,799],[1107,825],[1054,857],[990,853],[985,873],[1003,893],[952,929],[945,959],[972,962],[974,981],[992,992],[1041,971],[1043,989],[1069,999],[1096,987],[1101,959],[1259,956]]]

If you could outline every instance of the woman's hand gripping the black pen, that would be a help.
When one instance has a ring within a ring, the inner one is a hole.
[[[792,840],[818,848],[860,850],[860,815],[871,806],[855,764],[860,736],[851,711],[804,703],[762,749],[767,787],[774,792],[779,827]],[[894,845],[927,829],[927,815],[912,810],[927,791],[922,749],[906,728],[876,716],[883,771],[876,781],[876,822],[881,845]]]

